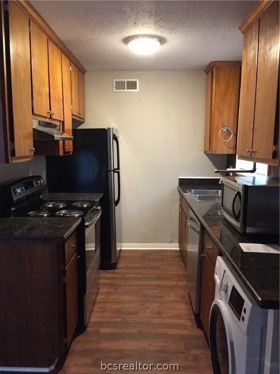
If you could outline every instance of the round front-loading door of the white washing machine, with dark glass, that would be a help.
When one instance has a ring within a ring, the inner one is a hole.
[[[230,314],[221,299],[213,301],[210,312],[209,345],[213,374],[236,374]]]

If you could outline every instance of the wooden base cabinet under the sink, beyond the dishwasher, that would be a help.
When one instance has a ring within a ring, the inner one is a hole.
[[[188,254],[188,217],[190,214],[190,207],[187,202],[182,199],[182,195],[179,194],[179,249],[182,255],[184,265],[187,264]]]

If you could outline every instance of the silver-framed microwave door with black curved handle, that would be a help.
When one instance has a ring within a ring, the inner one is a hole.
[[[240,232],[243,231],[243,188],[238,184],[231,184],[227,180],[223,181],[222,187],[222,208],[224,218]]]

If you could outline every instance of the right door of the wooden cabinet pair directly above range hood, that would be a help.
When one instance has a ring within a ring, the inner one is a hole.
[[[48,40],[51,117],[63,120],[61,52]]]

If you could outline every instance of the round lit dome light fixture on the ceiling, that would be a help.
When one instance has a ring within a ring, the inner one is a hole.
[[[155,35],[133,35],[123,39],[123,42],[138,55],[152,55],[165,43],[165,39]]]

